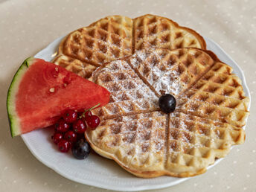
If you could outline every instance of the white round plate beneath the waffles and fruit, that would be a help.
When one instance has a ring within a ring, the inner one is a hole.
[[[48,47],[39,51],[35,57],[50,61],[57,54],[58,45],[63,39],[60,37],[51,42]],[[246,96],[250,98],[249,89],[246,86],[246,79],[243,71],[228,56],[228,54],[211,39],[205,37],[207,48],[214,51],[217,57],[224,63],[228,63],[234,68],[234,73],[243,81],[243,89]],[[251,103],[251,102],[250,102]],[[55,170],[65,178],[74,182],[80,182],[86,185],[92,185],[98,188],[105,188],[115,191],[141,191],[156,188],[166,188],[184,182],[189,178],[175,178],[171,176],[160,176],[153,179],[140,179],[123,170],[115,161],[104,159],[95,154],[90,154],[86,160],[77,160],[71,156],[71,153],[65,154],[58,152],[56,146],[51,141],[52,130],[39,129],[22,135],[23,141],[31,150],[33,156],[51,169]],[[215,164],[220,162],[218,159]],[[214,166],[214,165],[212,165]],[[208,167],[211,168],[212,166]]]

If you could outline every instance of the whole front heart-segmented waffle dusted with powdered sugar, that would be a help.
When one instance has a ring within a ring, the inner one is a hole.
[[[179,68],[182,70],[173,80],[169,72]],[[152,80],[151,74],[158,69],[159,79]],[[178,103],[169,115],[157,106],[161,90],[156,84],[163,81],[164,74],[170,81],[161,89],[176,95]],[[100,66],[92,80],[111,92],[111,101],[93,111],[102,121],[97,129],[86,131],[86,139],[97,153],[114,159],[135,176],[195,176],[204,173],[215,159],[226,156],[232,145],[243,144],[245,132],[241,126],[249,115],[248,98],[239,78],[231,74],[231,67],[220,63],[210,51],[136,51]],[[181,85],[179,92],[168,88],[176,83]],[[212,90],[212,86],[219,89]],[[222,102],[217,102],[220,99]],[[198,102],[202,112],[193,109],[193,103]],[[216,112],[208,112],[208,103]],[[225,110],[231,114],[223,118],[220,115]]]

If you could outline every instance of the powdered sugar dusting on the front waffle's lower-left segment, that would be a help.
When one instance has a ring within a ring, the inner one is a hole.
[[[139,159],[141,156],[152,153],[164,154],[164,137],[159,138],[159,129],[164,128],[166,124],[167,115],[161,114],[161,112],[148,112],[137,115],[127,115],[122,117],[122,121],[111,121],[111,125],[108,129],[116,129],[118,132],[109,130],[109,139],[119,137],[121,142],[118,143],[117,147],[122,149],[129,149],[125,156],[133,158],[137,156]],[[130,126],[134,127],[130,129]],[[161,129],[164,131],[165,129]],[[106,139],[106,142],[109,142]],[[129,147],[128,147],[129,146]]]

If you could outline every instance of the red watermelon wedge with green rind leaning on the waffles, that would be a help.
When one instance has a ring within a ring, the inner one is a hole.
[[[51,126],[67,109],[109,102],[109,92],[58,65],[33,57],[19,67],[7,95],[12,136]]]

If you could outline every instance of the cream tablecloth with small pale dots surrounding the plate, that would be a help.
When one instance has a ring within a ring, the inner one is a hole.
[[[22,138],[10,137],[6,96],[25,58],[54,39],[113,14],[153,13],[196,29],[231,55],[243,69],[252,95],[246,142],[200,176],[159,191],[256,190],[256,1],[71,1],[0,0],[0,188],[1,191],[106,191],[63,178],[41,164]]]

